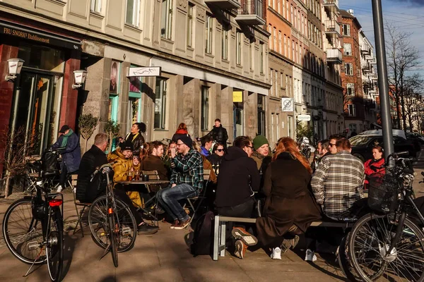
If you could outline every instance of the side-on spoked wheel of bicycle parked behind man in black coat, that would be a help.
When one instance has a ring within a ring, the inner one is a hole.
[[[119,199],[115,199],[117,219],[119,223],[118,252],[126,252],[134,246],[137,236],[136,219],[131,214],[129,207]],[[106,196],[98,197],[91,204],[88,212],[88,225],[90,226],[93,241],[103,249],[107,248],[107,207]]]

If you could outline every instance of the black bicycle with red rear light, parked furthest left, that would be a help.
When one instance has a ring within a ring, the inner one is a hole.
[[[64,260],[63,195],[51,193],[47,181],[58,175],[59,171],[42,172],[35,183],[35,195],[11,204],[3,219],[3,236],[11,253],[31,264],[30,269],[47,262],[52,281],[61,280]]]

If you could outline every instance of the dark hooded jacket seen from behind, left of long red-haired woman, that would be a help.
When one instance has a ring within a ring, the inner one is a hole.
[[[259,190],[256,162],[239,147],[229,147],[218,175],[216,207],[234,207],[250,200]]]

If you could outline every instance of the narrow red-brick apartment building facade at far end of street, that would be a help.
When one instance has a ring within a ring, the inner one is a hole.
[[[352,132],[360,133],[365,127],[365,106],[361,70],[359,32],[362,28],[353,10],[341,10],[343,35],[343,108],[345,126]]]

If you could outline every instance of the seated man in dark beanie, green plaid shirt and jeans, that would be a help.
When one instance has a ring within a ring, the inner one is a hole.
[[[203,160],[192,148],[193,141],[187,135],[177,140],[178,155],[171,149],[172,175],[170,187],[158,192],[158,202],[167,214],[172,216],[172,229],[184,229],[190,223],[190,216],[179,204],[179,200],[199,196],[203,188]]]

